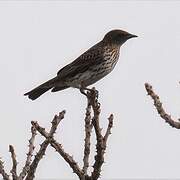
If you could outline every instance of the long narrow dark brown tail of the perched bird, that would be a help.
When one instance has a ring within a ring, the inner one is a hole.
[[[50,90],[51,88],[53,88],[57,81],[59,81],[58,77],[55,77],[53,79],[50,79],[49,81],[41,84],[40,86],[34,88],[33,90],[27,92],[26,94],[24,94],[25,96],[28,96],[29,99],[35,100],[37,99],[39,96],[41,96],[42,94],[44,94],[46,91]],[[60,90],[65,89],[67,87],[62,86],[60,88]]]

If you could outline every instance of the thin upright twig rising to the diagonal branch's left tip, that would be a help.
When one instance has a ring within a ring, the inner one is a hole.
[[[19,175],[19,179],[18,180],[23,180],[24,177],[26,176],[26,174],[28,173],[29,169],[30,169],[30,164],[31,164],[31,161],[32,161],[32,156],[33,156],[33,151],[34,151],[34,141],[35,141],[35,136],[36,136],[36,129],[32,126],[31,127],[31,138],[29,140],[29,150],[28,150],[28,153],[27,153],[27,159],[26,159],[26,162],[25,162],[25,165],[22,169],[22,172],[20,173]]]

